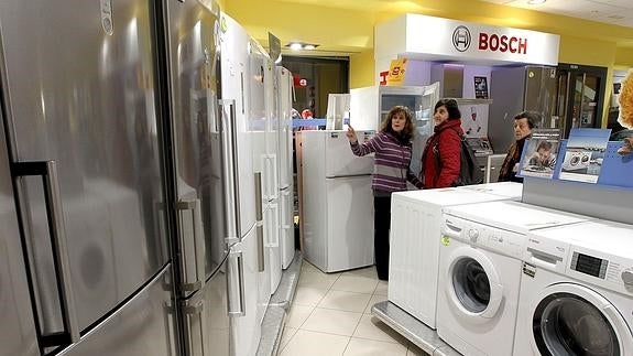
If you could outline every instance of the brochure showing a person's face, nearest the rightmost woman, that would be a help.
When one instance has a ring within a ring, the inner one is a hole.
[[[560,144],[560,130],[536,129],[527,141],[521,160],[521,176],[538,176],[550,180]]]

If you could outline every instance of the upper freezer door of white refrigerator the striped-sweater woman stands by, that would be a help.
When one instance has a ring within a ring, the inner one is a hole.
[[[345,133],[346,131],[324,131],[326,177],[371,174],[373,153],[364,157],[353,155]],[[372,131],[357,131],[356,133],[360,143],[373,137]]]

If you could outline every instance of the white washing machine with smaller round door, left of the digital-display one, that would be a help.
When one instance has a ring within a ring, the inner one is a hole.
[[[445,208],[439,337],[463,355],[511,355],[527,233],[583,220],[582,216],[508,201]]]

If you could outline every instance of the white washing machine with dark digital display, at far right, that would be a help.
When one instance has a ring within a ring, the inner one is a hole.
[[[633,355],[633,226],[537,230],[524,259],[515,356]]]

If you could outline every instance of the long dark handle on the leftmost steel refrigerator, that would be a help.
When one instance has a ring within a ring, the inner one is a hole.
[[[64,226],[64,212],[59,196],[59,181],[57,179],[57,164],[55,161],[15,162],[11,163],[11,174],[13,177],[41,175],[44,184],[44,199],[46,204],[46,216],[48,219],[48,230],[51,231],[51,245],[53,247],[53,258],[57,285],[59,288],[59,299],[63,304],[64,325],[67,328],[67,339],[77,343],[79,334],[79,323],[77,321],[77,310],[73,295],[73,282],[70,278],[70,262],[68,259],[68,242],[66,239],[66,228]],[[20,198],[19,198],[20,199]],[[57,335],[42,335],[43,344],[51,346],[58,345]]]

